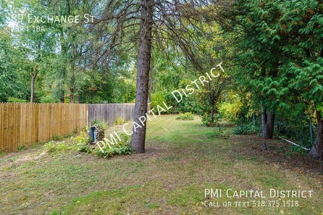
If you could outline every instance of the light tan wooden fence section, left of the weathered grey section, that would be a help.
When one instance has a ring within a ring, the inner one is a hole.
[[[87,104],[0,103],[0,151],[64,136],[87,124]]]

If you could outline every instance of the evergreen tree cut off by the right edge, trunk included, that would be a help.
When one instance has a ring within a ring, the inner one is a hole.
[[[290,87],[314,103],[317,137],[309,156],[323,159],[323,4],[320,0],[282,1],[288,9],[284,34],[291,58],[286,64]]]

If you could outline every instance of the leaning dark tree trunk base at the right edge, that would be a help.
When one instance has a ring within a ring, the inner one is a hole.
[[[308,156],[315,156],[318,159],[323,159],[323,119],[321,111],[316,111],[316,117],[318,120],[318,134],[316,136],[315,142],[312,145],[312,148]]]

